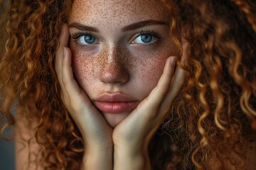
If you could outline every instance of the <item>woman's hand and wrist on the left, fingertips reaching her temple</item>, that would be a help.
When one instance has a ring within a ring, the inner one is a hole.
[[[63,25],[60,33],[60,47],[56,53],[55,71],[60,83],[61,99],[75,121],[85,142],[85,164],[88,169],[112,169],[112,128],[92,105],[84,91],[73,77],[71,51],[68,48],[69,30]],[[107,154],[107,155],[105,155]],[[107,159],[104,164],[104,160]],[[93,160],[91,160],[93,159]],[[100,160],[99,160],[100,159]],[[100,162],[100,164],[99,164]],[[96,166],[95,166],[96,165]]]

